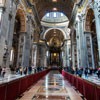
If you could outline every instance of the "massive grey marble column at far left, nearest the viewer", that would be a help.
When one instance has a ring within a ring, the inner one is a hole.
[[[10,7],[9,7],[10,5]],[[1,33],[0,33],[0,44],[2,54],[0,54],[0,65],[5,66],[9,69],[10,65],[10,53],[12,48],[12,38],[14,32],[14,22],[16,14],[16,5],[11,2],[6,2],[6,9],[2,12],[1,21]],[[6,56],[5,56],[6,54]]]

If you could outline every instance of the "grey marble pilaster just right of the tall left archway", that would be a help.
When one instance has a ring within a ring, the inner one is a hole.
[[[27,16],[28,21],[27,21],[27,32],[24,36],[24,48],[23,48],[23,67],[29,67],[29,61],[30,61],[30,55],[31,52],[31,17]]]

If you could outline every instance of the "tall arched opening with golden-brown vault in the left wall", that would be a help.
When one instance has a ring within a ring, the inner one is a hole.
[[[10,55],[10,67],[15,68],[22,65],[24,33],[25,28],[25,14],[22,9],[18,9],[15,17],[15,26],[12,40],[12,49]]]

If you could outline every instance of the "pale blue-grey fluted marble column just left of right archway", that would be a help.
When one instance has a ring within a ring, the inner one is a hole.
[[[77,62],[79,67],[87,67],[86,55],[85,55],[85,43],[84,43],[84,22],[83,19],[77,21],[76,28],[76,41],[77,41]]]

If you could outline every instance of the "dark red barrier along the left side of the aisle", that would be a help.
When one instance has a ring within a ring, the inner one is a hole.
[[[15,100],[20,94],[25,92],[31,85],[36,83],[50,70],[45,70],[36,74],[31,74],[5,84],[0,84],[0,100]]]

